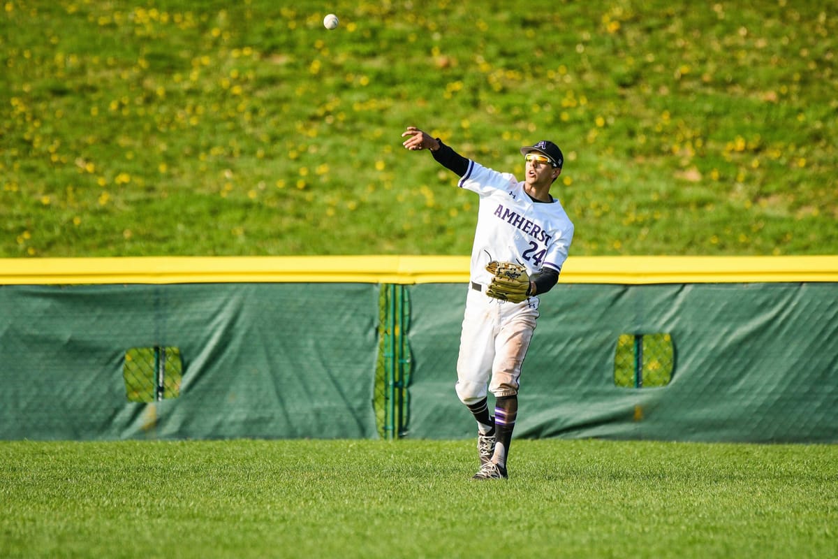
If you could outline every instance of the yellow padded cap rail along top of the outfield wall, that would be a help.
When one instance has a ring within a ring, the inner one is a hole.
[[[465,283],[468,256],[0,258],[0,285]],[[571,256],[562,283],[838,282],[838,256]]]

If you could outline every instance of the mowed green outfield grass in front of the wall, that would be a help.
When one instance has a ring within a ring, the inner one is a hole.
[[[4,557],[834,557],[838,447],[0,443]]]

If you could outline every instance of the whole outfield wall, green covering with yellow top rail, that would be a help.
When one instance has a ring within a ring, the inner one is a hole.
[[[379,390],[401,436],[473,437],[467,284],[459,256],[0,259],[0,438],[378,437]],[[668,351],[635,372],[668,375],[625,386],[619,340],[647,334]],[[137,401],[146,358],[178,380]],[[541,298],[515,435],[834,443],[835,401],[838,256],[577,257]]]

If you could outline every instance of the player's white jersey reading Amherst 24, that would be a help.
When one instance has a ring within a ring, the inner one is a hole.
[[[472,282],[488,285],[492,281],[486,271],[492,260],[523,264],[530,277],[542,267],[561,271],[573,239],[573,224],[558,200],[533,202],[524,184],[510,173],[468,162],[458,185],[480,196]]]

